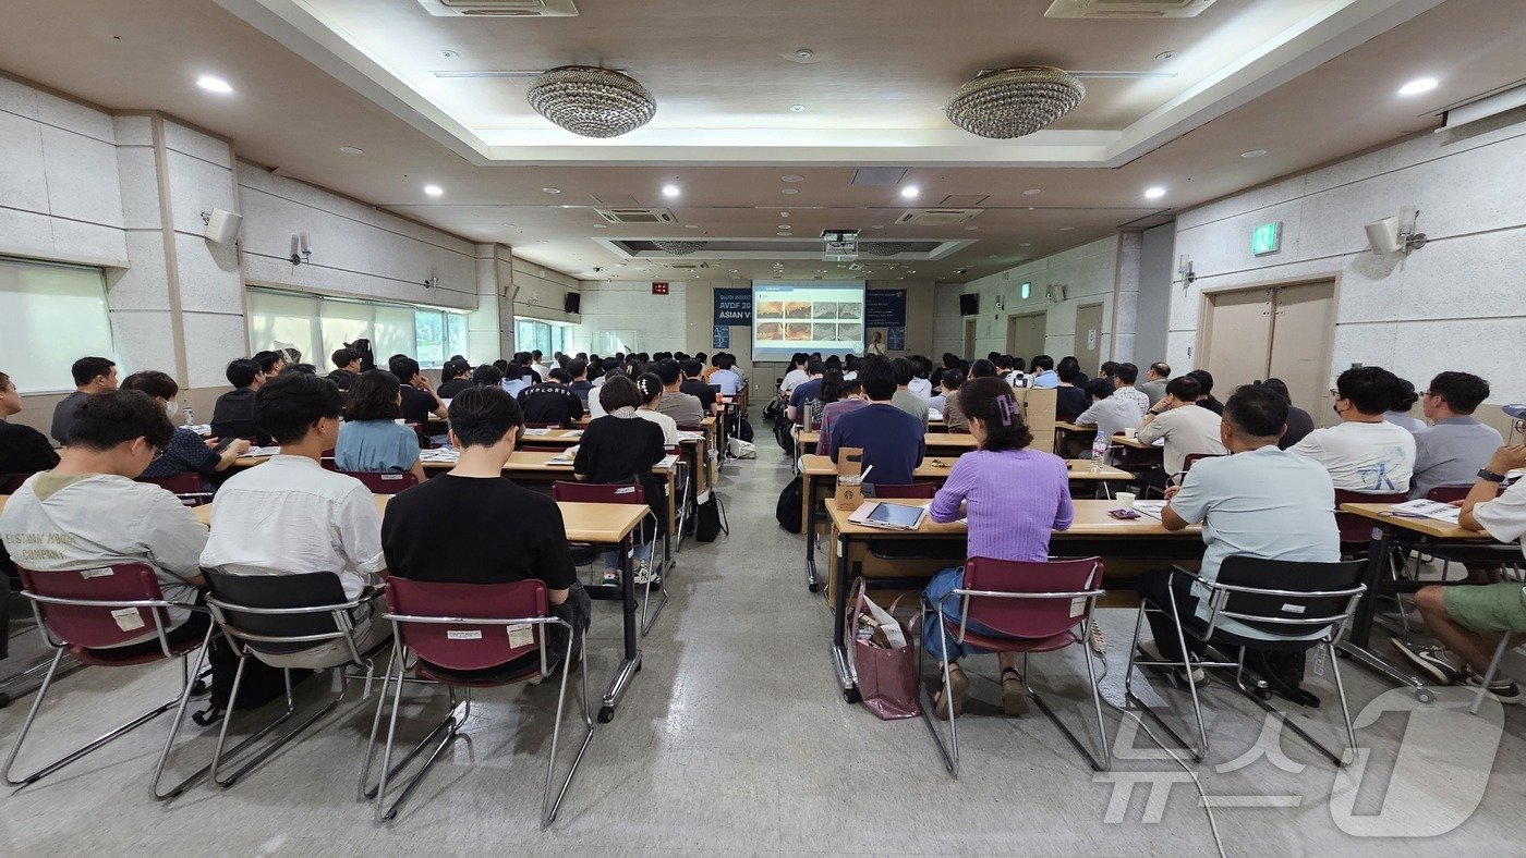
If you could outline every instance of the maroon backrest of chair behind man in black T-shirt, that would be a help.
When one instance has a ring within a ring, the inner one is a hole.
[[[438,584],[394,576],[386,582],[386,603],[394,616],[417,617],[394,620],[403,646],[447,671],[497,668],[540,649],[545,640],[545,626],[539,623],[525,629],[470,620],[530,620],[551,611],[546,585],[540,581]]]

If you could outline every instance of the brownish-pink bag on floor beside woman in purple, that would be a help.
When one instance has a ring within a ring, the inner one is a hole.
[[[859,698],[881,721],[922,715],[917,689],[917,649],[911,631],[868,597],[868,582],[853,582],[848,602],[853,674]]]

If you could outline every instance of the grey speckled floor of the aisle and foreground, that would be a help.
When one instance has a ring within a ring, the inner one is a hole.
[[[615,721],[598,728],[549,831],[537,826],[554,706],[551,686],[543,686],[482,693],[468,739],[453,747],[388,826],[374,824],[371,808],[356,800],[372,698],[342,709],[233,789],[203,785],[168,805],[148,796],[148,773],[168,728],[160,718],[0,799],[0,853],[1215,852],[1189,776],[1160,759],[1143,733],[1125,730],[1114,773],[1093,774],[1042,715],[995,713],[996,686],[981,678],[993,672],[986,660],[971,663],[977,700],[960,721],[958,780],[943,771],[920,721],[882,722],[844,704],[830,669],[829,613],[803,585],[801,536],[772,520],[787,469],[775,450],[760,443],[760,454],[758,462],[728,466],[722,495],[732,535],[684,549],[670,579],[673,603],[642,642],[645,669]],[[1103,616],[1111,642],[1103,690],[1114,704],[1123,703],[1123,646],[1132,619],[1125,610]],[[617,658],[613,605],[595,603],[591,640],[598,693]],[[1056,689],[1051,700],[1062,716],[1085,712],[1079,658],[1071,652],[1036,661],[1036,684]],[[1357,710],[1387,690],[1355,666],[1344,677]],[[98,669],[63,680],[50,696],[56,706],[44,709],[35,750],[56,751],[93,736],[166,696],[175,678],[172,668],[157,668]],[[1184,698],[1160,678],[1152,681],[1180,715]],[[305,700],[316,700],[320,684],[310,683]],[[1334,736],[1328,677],[1311,672],[1309,686],[1326,706],[1297,718]],[[1434,707],[1369,718],[1358,732],[1369,748],[1364,765],[1338,782],[1334,768],[1291,735],[1280,744],[1286,757],[1280,768],[1265,756],[1242,760],[1262,733],[1259,710],[1222,684],[1206,696],[1215,748],[1193,771],[1219,803],[1218,829],[1228,853],[1520,850],[1526,716],[1515,707],[1505,713],[1497,754],[1489,753],[1488,719]],[[6,750],[29,703],[0,710]],[[520,703],[530,706],[523,715],[511,706]],[[1402,710],[1407,698],[1393,693],[1381,706]],[[415,727],[409,735],[441,712],[438,695],[404,709],[404,722]],[[1114,709],[1106,716],[1114,733],[1120,724],[1132,725]],[[1410,738],[1399,754],[1405,728]],[[188,735],[182,770],[204,759],[215,738],[194,727]],[[1270,748],[1274,735],[1260,739]],[[1482,805],[1473,811],[1491,767]],[[1355,809],[1341,811],[1354,803],[1352,782],[1360,785]],[[1262,806],[1244,806],[1245,797]],[[1465,821],[1456,826],[1456,820]],[[1363,826],[1389,837],[1347,834]],[[1415,834],[1439,837],[1392,838]]]

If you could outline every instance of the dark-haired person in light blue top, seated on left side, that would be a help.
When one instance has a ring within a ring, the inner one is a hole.
[[[360,474],[401,474],[424,482],[418,459],[418,433],[400,425],[403,389],[391,372],[362,372],[349,389],[345,424],[334,443],[334,466]]]

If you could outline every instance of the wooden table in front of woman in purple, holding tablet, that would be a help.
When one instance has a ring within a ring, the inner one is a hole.
[[[897,500],[908,506],[926,506],[925,500]],[[1190,526],[1183,530],[1166,530],[1155,518],[1140,517],[1122,521],[1108,515],[1114,509],[1106,500],[1074,501],[1076,518],[1070,530],[1051,535],[1050,550],[1056,556],[1102,556],[1129,558],[1152,561],[1193,561],[1202,558],[1202,529]],[[923,520],[917,530],[882,530],[853,524],[848,517],[853,511],[836,509],[829,504],[827,515],[832,520],[832,538],[835,550],[830,559],[832,576],[832,660],[838,672],[838,683],[842,687],[842,698],[848,703],[859,701],[859,692],[853,681],[853,671],[847,654],[847,591],[852,578],[865,576],[870,588],[923,588],[929,576],[926,575],[896,575],[877,576],[867,573],[870,558],[870,543],[925,543],[926,556],[919,558],[923,565],[932,562],[940,568],[960,565],[964,562],[966,526],[961,523],[937,524],[931,518]],[[942,555],[942,556],[938,556]],[[903,561],[902,561],[903,562]],[[884,565],[884,561],[881,561]],[[1106,587],[1106,571],[1103,571]],[[1129,582],[1132,585],[1132,581]]]

